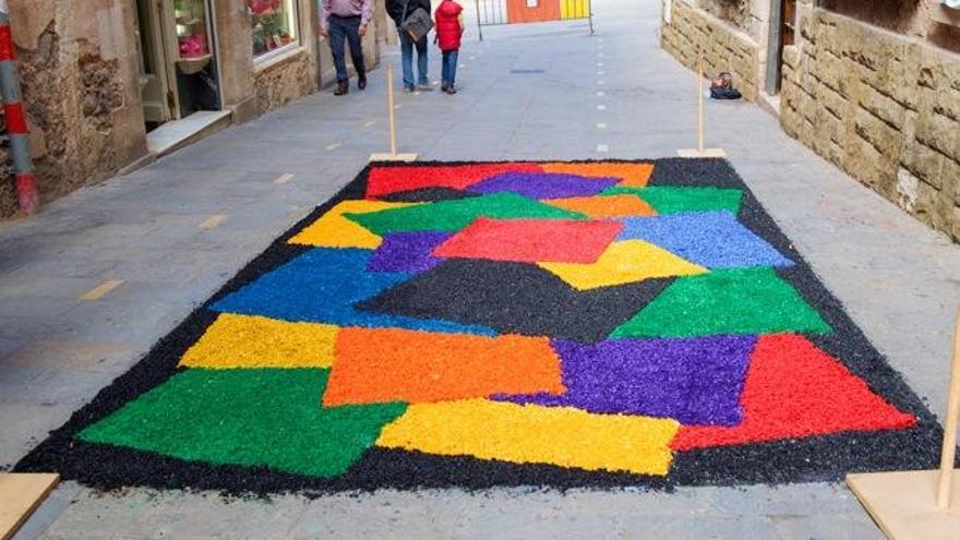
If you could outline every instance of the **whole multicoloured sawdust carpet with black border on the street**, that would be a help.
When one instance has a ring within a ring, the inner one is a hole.
[[[228,491],[829,480],[938,428],[722,160],[374,165],[27,456]]]

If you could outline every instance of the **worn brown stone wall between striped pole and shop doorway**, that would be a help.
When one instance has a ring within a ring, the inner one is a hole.
[[[132,3],[9,0],[9,9],[41,200],[144,156]],[[0,217],[15,208],[12,193],[0,190]]]

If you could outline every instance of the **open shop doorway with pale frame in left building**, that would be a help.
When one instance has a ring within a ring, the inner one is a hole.
[[[146,131],[221,109],[209,0],[135,0]]]

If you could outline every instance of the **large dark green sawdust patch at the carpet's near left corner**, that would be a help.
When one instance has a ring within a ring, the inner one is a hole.
[[[328,370],[187,370],[83,430],[91,443],[332,478],[406,404],[323,408]]]

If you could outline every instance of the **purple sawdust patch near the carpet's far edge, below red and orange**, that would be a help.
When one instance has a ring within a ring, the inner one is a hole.
[[[468,191],[475,193],[511,191],[530,199],[563,199],[596,195],[620,180],[552,172],[504,172],[471,185]]]

